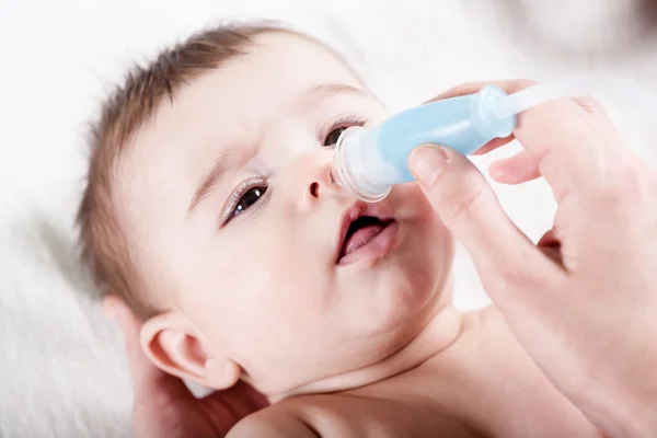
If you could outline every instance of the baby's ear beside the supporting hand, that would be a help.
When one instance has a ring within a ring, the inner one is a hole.
[[[240,379],[240,366],[204,344],[182,312],[151,318],[140,337],[146,355],[164,372],[215,390],[230,388]]]

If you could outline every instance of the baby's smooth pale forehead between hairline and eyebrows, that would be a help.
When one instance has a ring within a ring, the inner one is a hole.
[[[364,90],[345,62],[323,45],[293,34],[258,35],[237,56],[187,81],[162,102],[139,136],[138,151],[204,147],[256,131],[318,89]],[[196,138],[194,145],[188,140]]]

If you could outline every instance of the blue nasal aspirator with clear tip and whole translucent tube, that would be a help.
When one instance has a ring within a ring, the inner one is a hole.
[[[626,94],[636,91],[637,85],[621,80],[620,87]],[[495,138],[510,136],[517,114],[548,101],[586,95],[600,88],[618,91],[618,79],[599,73],[575,74],[512,94],[486,85],[474,94],[394,114],[372,129],[351,127],[336,143],[333,176],[357,198],[377,203],[388,196],[394,184],[414,180],[407,162],[416,147],[441,145],[468,155]],[[645,100],[645,90],[635,92],[634,97]]]

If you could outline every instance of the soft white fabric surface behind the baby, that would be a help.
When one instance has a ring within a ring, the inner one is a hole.
[[[0,0],[0,437],[129,436],[120,339],[76,260],[85,124],[131,62],[220,19],[256,15],[343,50],[393,108],[463,81],[591,68],[657,85],[656,42],[639,39],[632,1]],[[650,159],[647,115],[609,108]],[[550,226],[543,183],[497,188],[531,238]],[[484,304],[463,253],[456,270],[457,304]]]

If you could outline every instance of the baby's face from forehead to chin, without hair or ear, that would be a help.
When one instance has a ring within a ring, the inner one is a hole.
[[[123,163],[147,283],[258,388],[376,364],[448,300],[452,241],[417,184],[366,205],[331,178],[342,128],[387,115],[324,47],[263,34],[165,101]],[[345,239],[359,215],[376,219]]]

